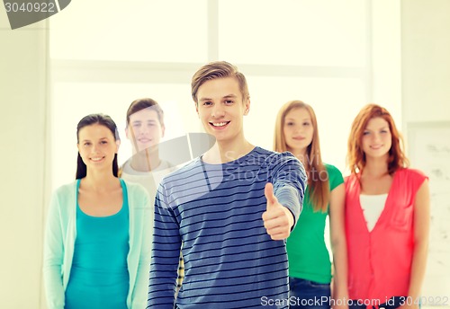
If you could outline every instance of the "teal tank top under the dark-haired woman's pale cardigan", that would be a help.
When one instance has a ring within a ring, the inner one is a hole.
[[[86,215],[78,205],[76,181],[76,240],[66,309],[127,308],[130,220],[127,188],[120,181],[123,204],[112,216]]]

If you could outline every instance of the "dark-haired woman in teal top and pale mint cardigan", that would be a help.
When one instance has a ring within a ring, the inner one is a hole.
[[[78,123],[76,181],[53,193],[44,243],[49,309],[144,308],[151,250],[148,193],[117,177],[109,116]]]

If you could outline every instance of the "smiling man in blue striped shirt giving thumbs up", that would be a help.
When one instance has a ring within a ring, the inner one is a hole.
[[[216,143],[157,190],[148,308],[250,308],[263,300],[287,308],[284,240],[302,209],[302,163],[244,137],[250,100],[236,66],[202,66],[192,95]],[[184,282],[175,301],[182,243]]]

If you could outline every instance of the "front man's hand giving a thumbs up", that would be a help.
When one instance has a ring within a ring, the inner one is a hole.
[[[293,227],[293,214],[281,205],[274,195],[274,186],[267,182],[264,194],[267,199],[266,211],[263,214],[264,226],[267,234],[275,241],[286,239]]]

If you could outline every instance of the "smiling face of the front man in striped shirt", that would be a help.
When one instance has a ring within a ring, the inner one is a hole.
[[[243,116],[250,101],[243,101],[234,77],[215,78],[203,83],[197,93],[197,113],[205,131],[218,143],[233,143],[244,139]]]

